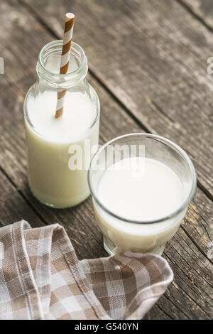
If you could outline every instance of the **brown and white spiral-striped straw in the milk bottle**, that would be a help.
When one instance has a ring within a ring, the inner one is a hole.
[[[72,43],[72,32],[74,26],[74,19],[75,15],[72,13],[66,14],[66,21],[65,21],[65,31],[64,31],[64,38],[63,38],[63,46],[62,46],[62,54],[60,59],[60,74],[67,73],[70,63],[70,48]],[[64,98],[67,90],[62,90],[58,92],[58,100],[57,106],[55,111],[55,118],[58,118],[63,113],[63,104]]]

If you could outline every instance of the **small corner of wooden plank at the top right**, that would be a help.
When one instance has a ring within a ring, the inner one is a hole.
[[[213,1],[212,0],[178,0],[182,6],[213,31]]]

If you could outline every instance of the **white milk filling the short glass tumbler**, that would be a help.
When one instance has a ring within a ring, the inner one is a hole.
[[[125,158],[111,165],[99,180],[97,198],[107,208],[94,201],[104,246],[111,254],[128,249],[161,254],[187,210],[154,222],[178,210],[186,193],[177,174],[153,158]]]

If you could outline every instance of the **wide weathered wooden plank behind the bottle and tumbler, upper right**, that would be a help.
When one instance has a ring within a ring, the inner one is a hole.
[[[212,33],[176,1],[22,0],[55,36],[75,11],[75,41],[90,69],[144,128],[190,154],[212,197]],[[87,15],[85,15],[87,13]]]

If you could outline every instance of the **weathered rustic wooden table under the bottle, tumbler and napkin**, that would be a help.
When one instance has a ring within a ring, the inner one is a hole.
[[[76,208],[38,203],[26,181],[23,99],[35,81],[39,50],[62,38],[66,11],[89,58],[89,81],[102,107],[100,142],[146,131],[175,141],[197,171],[197,193],[163,257],[175,279],[148,319],[212,317],[212,0],[1,0],[0,222],[59,222],[80,258],[104,257],[91,198]],[[213,232],[213,226],[212,226]]]

